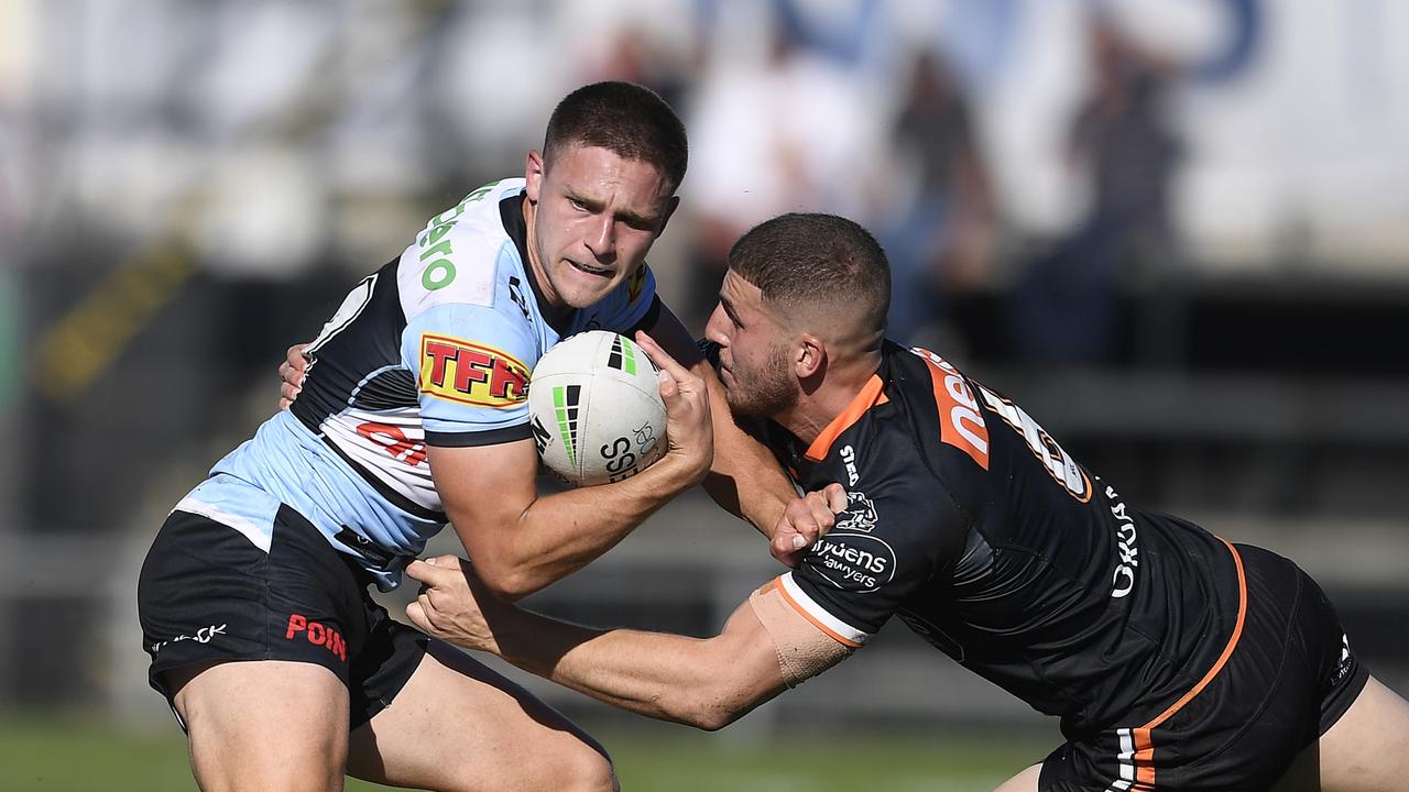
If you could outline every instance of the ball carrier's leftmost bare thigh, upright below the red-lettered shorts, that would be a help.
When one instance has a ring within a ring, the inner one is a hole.
[[[311,662],[209,662],[166,672],[201,789],[341,789],[348,693]]]

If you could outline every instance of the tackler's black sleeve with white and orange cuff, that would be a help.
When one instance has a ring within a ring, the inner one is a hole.
[[[945,537],[960,536],[954,509],[924,483],[852,486],[833,530],[779,578],[789,605],[837,641],[864,645],[941,568]]]

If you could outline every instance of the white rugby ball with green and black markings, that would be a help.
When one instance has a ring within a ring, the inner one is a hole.
[[[655,364],[616,333],[589,330],[544,352],[528,380],[528,413],[538,457],[568,485],[621,481],[665,454]]]

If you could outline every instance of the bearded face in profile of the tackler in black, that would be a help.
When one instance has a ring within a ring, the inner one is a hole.
[[[719,378],[737,416],[776,417],[797,403],[788,328],[762,293],[734,271],[724,275],[704,337],[719,344]]]

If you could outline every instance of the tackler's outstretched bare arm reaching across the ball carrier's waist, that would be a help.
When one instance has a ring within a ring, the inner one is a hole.
[[[451,555],[413,562],[406,574],[424,583],[406,613],[426,633],[637,714],[712,731],[851,654],[775,583],[740,605],[719,636],[690,638],[592,630],[520,610],[489,596],[469,564]]]

